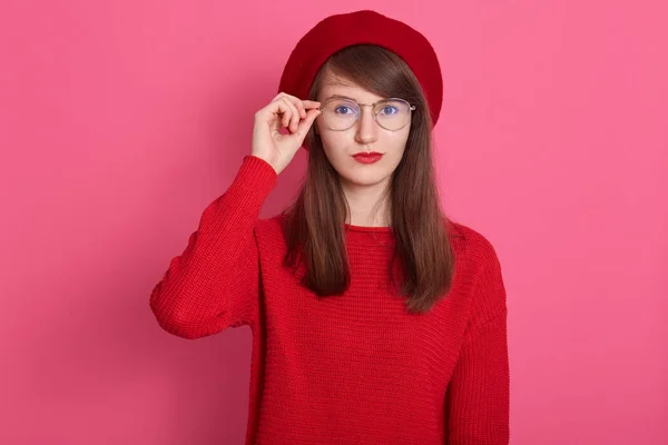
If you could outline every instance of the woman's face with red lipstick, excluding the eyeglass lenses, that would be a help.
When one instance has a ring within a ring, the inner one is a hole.
[[[318,101],[332,97],[353,99],[357,103],[375,103],[383,100],[347,80],[328,76],[318,95]],[[348,109],[343,109],[348,112]],[[324,116],[320,116],[316,128],[323,141],[325,155],[330,164],[338,172],[342,186],[389,186],[394,169],[401,161],[405,149],[410,120],[403,128],[392,131],[381,127],[373,117],[372,107],[360,107],[360,118],[347,130],[331,130],[324,123]],[[373,164],[364,164],[355,159],[355,155],[364,152],[379,152],[382,157]]]

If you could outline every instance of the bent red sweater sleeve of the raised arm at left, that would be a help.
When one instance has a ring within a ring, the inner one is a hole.
[[[255,222],[276,180],[269,164],[246,156],[227,191],[206,207],[187,247],[171,259],[150,295],[150,308],[165,330],[198,338],[256,320]]]

